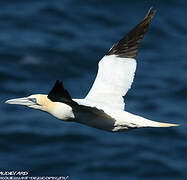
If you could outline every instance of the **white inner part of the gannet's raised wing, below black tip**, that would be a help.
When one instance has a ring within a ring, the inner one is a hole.
[[[86,99],[98,106],[124,109],[123,96],[131,88],[135,71],[135,59],[104,56],[99,62],[97,77]]]

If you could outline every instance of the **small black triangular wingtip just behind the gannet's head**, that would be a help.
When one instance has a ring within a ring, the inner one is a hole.
[[[54,102],[71,102],[72,98],[68,91],[64,88],[64,85],[59,80],[56,81],[55,85],[47,96],[51,101]]]

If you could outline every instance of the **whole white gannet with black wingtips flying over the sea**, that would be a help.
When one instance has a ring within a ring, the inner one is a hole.
[[[109,132],[178,126],[148,120],[124,110],[123,96],[134,79],[138,47],[155,12],[150,8],[145,18],[100,60],[95,82],[84,99],[72,99],[63,83],[56,81],[48,95],[35,94],[5,103],[39,109],[63,121],[78,122]]]

